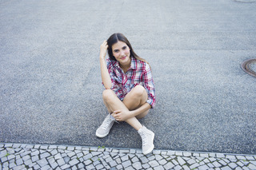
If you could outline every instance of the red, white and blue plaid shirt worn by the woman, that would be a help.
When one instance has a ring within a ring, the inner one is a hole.
[[[148,94],[148,100],[146,102],[151,105],[152,109],[154,108],[154,81],[150,65],[145,61],[131,57],[130,69],[126,73],[121,69],[118,61],[112,61],[110,58],[106,59],[106,66],[112,81],[111,89],[121,101],[136,85],[142,85]]]

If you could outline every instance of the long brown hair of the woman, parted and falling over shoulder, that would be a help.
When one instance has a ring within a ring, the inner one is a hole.
[[[107,45],[109,46],[108,47],[108,54],[109,54],[109,57],[110,57],[110,60],[114,60],[114,61],[117,61],[112,53],[112,45],[114,45],[115,43],[117,43],[118,41],[120,42],[125,42],[126,45],[129,46],[130,48],[130,56],[131,57],[135,57],[136,59],[140,60],[140,61],[144,61],[146,62],[147,64],[149,64],[145,59],[143,59],[142,57],[138,57],[138,55],[134,52],[134,49],[133,47],[130,45],[130,42],[128,41],[128,39],[121,33],[115,33],[115,34],[112,34],[110,36],[109,39],[107,39]]]

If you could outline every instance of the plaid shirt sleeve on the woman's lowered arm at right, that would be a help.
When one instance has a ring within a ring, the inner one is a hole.
[[[153,109],[155,105],[154,81],[153,81],[150,65],[148,65],[147,63],[146,63],[145,71],[142,74],[142,80],[144,81],[145,89],[148,94],[148,100],[146,102],[150,104],[151,109]]]

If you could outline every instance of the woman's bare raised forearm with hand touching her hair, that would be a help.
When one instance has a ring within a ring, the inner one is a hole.
[[[106,68],[106,50],[107,50],[107,43],[104,41],[101,45],[101,52],[99,54],[99,61],[101,65],[101,74],[102,74],[102,83],[106,89],[111,89],[111,79],[110,79],[110,73],[108,72]]]

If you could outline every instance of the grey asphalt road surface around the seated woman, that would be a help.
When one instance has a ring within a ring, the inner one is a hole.
[[[0,0],[0,142],[141,148],[106,117],[99,46],[125,34],[150,62],[155,148],[256,153],[256,2]]]

